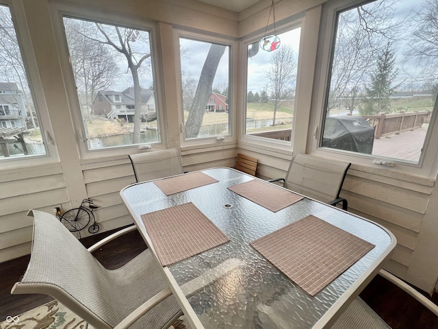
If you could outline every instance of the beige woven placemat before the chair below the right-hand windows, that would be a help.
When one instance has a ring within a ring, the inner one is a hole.
[[[229,189],[273,212],[286,208],[302,199],[301,195],[261,180],[250,180],[229,186]]]

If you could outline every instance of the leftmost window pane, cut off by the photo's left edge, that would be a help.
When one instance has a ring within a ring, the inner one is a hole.
[[[47,155],[10,9],[0,5],[0,160]]]

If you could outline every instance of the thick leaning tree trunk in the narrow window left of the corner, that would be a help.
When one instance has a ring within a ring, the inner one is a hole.
[[[186,138],[195,138],[198,136],[203,123],[205,107],[211,95],[211,90],[218,70],[219,62],[224,55],[227,46],[211,44],[201,76],[199,77],[198,86],[194,95],[192,106],[190,107],[189,116],[185,122]]]

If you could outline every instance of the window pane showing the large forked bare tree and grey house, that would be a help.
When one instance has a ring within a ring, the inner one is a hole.
[[[158,143],[159,116],[142,110],[155,105],[151,30],[71,16],[63,22],[86,149]]]

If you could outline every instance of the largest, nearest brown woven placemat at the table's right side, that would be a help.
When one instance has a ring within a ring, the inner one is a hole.
[[[312,296],[374,248],[312,215],[250,244]]]

